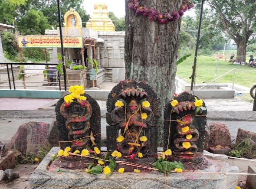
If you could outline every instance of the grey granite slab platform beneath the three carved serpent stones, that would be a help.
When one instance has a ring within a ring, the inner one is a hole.
[[[236,166],[229,166],[226,163],[226,157],[220,159],[216,159],[216,157],[215,159],[207,158],[212,164],[207,169],[194,172],[191,170],[190,173],[171,173],[167,174],[166,177],[164,173],[157,171],[150,173],[112,173],[108,178],[105,178],[104,174],[86,173],[85,170],[65,169],[66,172],[63,173],[49,172],[47,167],[50,163],[51,154],[56,154],[58,151],[59,147],[53,147],[30,176],[31,189],[56,189],[56,187],[62,189],[70,187],[75,189],[159,189],[164,188],[165,180],[167,189],[220,189],[228,187],[235,189],[238,175],[214,173],[239,173]]]

